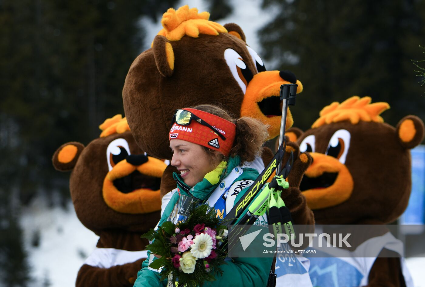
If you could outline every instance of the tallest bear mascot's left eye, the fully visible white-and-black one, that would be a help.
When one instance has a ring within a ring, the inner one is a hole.
[[[241,87],[242,92],[246,92],[246,86],[249,81],[252,80],[252,72],[246,66],[244,59],[233,49],[226,49],[224,51],[224,59],[226,60],[227,65],[229,66],[230,71],[232,72],[233,77],[236,82],[238,82],[239,87]]]

